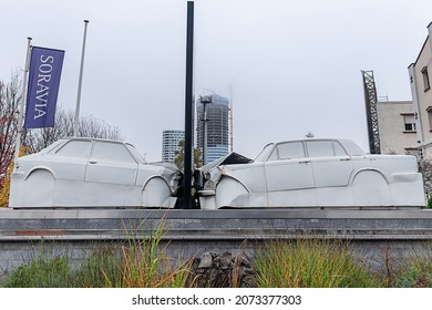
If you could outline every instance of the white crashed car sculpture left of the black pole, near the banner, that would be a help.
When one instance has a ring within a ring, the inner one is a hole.
[[[174,165],[147,164],[131,144],[65,138],[18,159],[9,206],[173,208],[177,178]]]

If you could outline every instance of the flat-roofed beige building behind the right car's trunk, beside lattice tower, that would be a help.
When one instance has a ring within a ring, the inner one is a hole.
[[[415,111],[411,101],[377,104],[381,154],[416,154]]]

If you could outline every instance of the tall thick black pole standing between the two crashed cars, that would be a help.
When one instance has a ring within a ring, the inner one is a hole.
[[[186,32],[186,103],[185,103],[185,163],[183,208],[192,209],[192,141],[193,141],[193,75],[194,75],[194,2],[187,1]]]

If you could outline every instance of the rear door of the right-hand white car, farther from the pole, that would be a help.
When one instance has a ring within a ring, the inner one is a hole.
[[[353,164],[338,141],[306,141],[306,148],[317,188],[349,184]]]

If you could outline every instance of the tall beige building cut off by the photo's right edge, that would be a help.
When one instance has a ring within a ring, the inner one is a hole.
[[[429,35],[415,62],[408,68],[412,102],[416,122],[418,146],[423,158],[432,159],[432,23],[428,25]],[[431,72],[431,73],[429,73]]]

